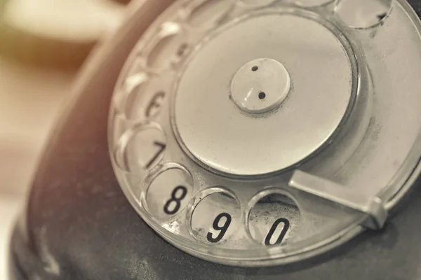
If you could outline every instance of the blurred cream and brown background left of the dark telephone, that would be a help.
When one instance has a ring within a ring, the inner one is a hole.
[[[129,1],[0,0],[0,280],[13,223],[72,83]]]

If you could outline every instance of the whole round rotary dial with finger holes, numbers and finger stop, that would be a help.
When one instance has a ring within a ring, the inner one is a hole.
[[[352,1],[180,0],[147,29],[109,149],[159,235],[260,266],[382,228],[421,170],[420,22],[403,0]]]

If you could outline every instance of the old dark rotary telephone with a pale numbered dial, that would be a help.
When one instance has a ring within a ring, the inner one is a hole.
[[[420,3],[131,3],[51,135],[11,279],[419,279]]]

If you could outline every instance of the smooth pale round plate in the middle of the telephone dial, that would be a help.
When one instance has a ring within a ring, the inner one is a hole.
[[[268,174],[302,162],[338,130],[352,101],[352,66],[347,46],[327,27],[305,13],[275,10],[210,36],[182,72],[174,102],[180,142],[200,162],[227,174]],[[285,66],[292,86],[283,102],[267,110],[265,104],[283,95],[268,80],[283,80],[284,73],[250,66],[259,77],[246,76],[242,83],[254,81],[246,95],[262,105],[245,113],[230,90],[239,87],[244,65],[265,57]]]

